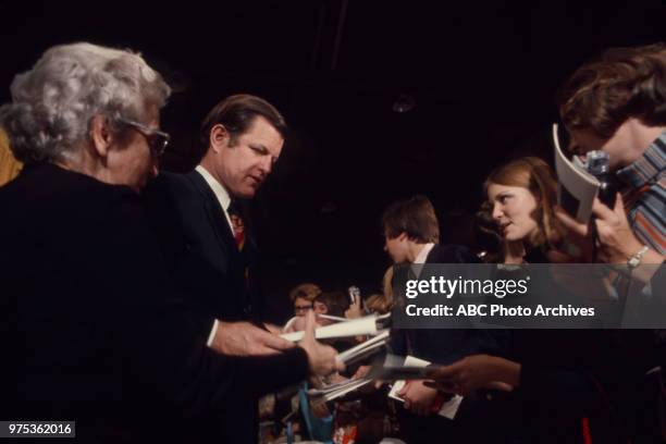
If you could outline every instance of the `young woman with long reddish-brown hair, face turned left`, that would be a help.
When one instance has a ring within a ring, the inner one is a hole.
[[[502,242],[499,262],[547,261],[548,251],[562,239],[554,213],[556,186],[551,168],[532,157],[509,161],[489,175],[480,215],[482,223],[490,218],[495,222]],[[621,360],[619,349],[594,331],[510,332],[508,357],[467,356],[434,371],[433,378],[445,380],[447,391],[461,395],[481,387],[515,390],[507,421],[514,423],[510,433],[516,439],[577,442],[591,433],[595,441],[622,442],[622,424],[609,415],[606,394],[597,393],[600,375],[616,371],[605,369],[604,362]]]

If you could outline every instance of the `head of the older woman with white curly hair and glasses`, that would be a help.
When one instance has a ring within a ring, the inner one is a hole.
[[[24,163],[52,162],[136,190],[157,174],[169,141],[159,110],[171,89],[140,55],[58,46],[17,75],[11,92],[0,121]]]

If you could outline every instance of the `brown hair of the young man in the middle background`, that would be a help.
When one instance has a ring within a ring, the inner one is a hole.
[[[388,238],[406,233],[418,244],[440,243],[440,222],[425,196],[417,195],[388,206],[382,215],[382,226]]]

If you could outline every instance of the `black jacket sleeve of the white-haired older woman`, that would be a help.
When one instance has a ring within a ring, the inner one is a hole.
[[[215,409],[231,396],[257,396],[296,383],[307,375],[301,348],[270,357],[238,358],[208,348],[193,319],[170,287],[163,262],[148,230],[138,198],[121,197],[118,220],[109,221],[109,238],[100,282],[108,328],[118,334],[126,371],[148,392],[188,406],[193,415]]]

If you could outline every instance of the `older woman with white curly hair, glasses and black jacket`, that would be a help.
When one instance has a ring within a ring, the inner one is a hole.
[[[140,55],[53,47],[11,92],[0,125],[25,168],[0,187],[0,418],[75,420],[84,442],[227,442],[234,399],[340,367],[313,318],[294,347],[180,308],[136,193],[169,139],[169,86]]]

